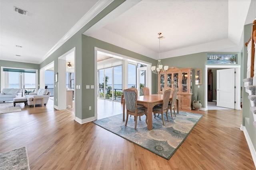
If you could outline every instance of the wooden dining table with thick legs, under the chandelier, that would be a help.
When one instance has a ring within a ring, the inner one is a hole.
[[[172,96],[170,96],[172,99]],[[178,99],[178,98],[176,98]],[[153,95],[145,95],[145,96],[138,96],[137,104],[143,105],[144,107],[148,108],[148,130],[151,130],[153,127],[152,123],[152,108],[155,105],[159,105],[163,103],[163,95],[162,94],[153,94]],[[177,102],[178,104],[178,102]],[[178,105],[177,105],[178,108]],[[125,100],[123,103],[123,121],[124,121],[124,114],[125,114]]]

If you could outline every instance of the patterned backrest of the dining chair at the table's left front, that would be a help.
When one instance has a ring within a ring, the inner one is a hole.
[[[135,88],[136,89],[136,88]],[[124,90],[124,100],[125,100],[125,106],[128,111],[136,111],[137,109],[137,98],[138,93],[135,89],[125,89]]]

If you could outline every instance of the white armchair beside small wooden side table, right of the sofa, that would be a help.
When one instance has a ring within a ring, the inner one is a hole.
[[[29,93],[29,95],[25,95],[25,97],[29,106],[34,105],[34,101],[36,101],[36,105],[42,104],[42,99],[34,100],[34,98],[43,97],[43,103],[46,106],[50,98],[50,93],[48,89],[38,89],[37,93]]]

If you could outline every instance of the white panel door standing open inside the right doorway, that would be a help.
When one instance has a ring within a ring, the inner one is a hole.
[[[217,106],[235,107],[235,69],[217,70]]]

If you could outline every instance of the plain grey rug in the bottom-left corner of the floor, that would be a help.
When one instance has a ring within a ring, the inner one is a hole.
[[[1,170],[29,170],[26,146],[0,153]]]

